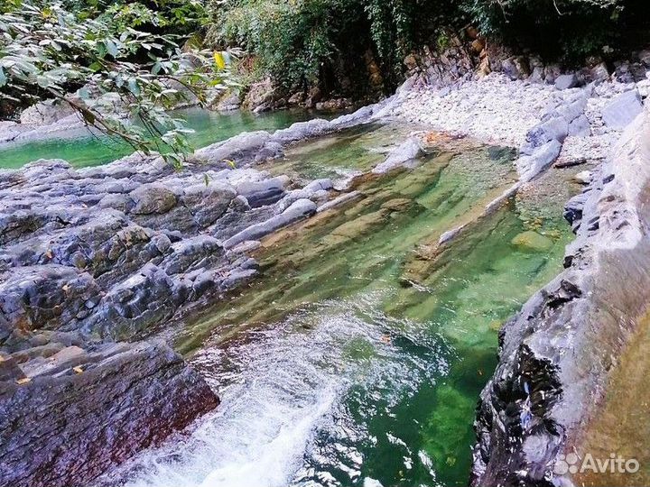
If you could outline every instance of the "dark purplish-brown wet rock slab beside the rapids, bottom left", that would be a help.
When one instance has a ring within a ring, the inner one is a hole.
[[[162,343],[70,346],[6,369],[0,363],[0,479],[13,487],[90,485],[218,404]]]

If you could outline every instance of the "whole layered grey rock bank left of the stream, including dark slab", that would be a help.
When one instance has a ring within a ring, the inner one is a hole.
[[[136,340],[251,279],[257,239],[336,204],[329,179],[250,166],[383,107],[243,133],[180,172],[138,154],[0,171],[0,483],[88,484],[213,409],[180,355]]]

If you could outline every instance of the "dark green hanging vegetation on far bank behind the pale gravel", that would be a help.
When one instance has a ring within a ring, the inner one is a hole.
[[[471,23],[547,59],[580,63],[612,52],[644,9],[635,0],[213,0],[209,40],[243,45],[286,87],[350,76],[370,50],[391,89],[404,55],[444,44],[450,27]]]

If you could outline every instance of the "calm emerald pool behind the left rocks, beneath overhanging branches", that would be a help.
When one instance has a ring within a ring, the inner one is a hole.
[[[189,136],[195,148],[223,141],[241,132],[284,128],[314,116],[306,111],[286,110],[260,115],[239,111],[219,114],[200,108],[177,110],[174,115],[184,118],[187,126],[195,131]],[[69,161],[75,167],[98,166],[131,152],[133,148],[124,142],[88,134],[86,137],[27,142],[0,149],[0,169],[20,168],[27,162],[54,158]]]

